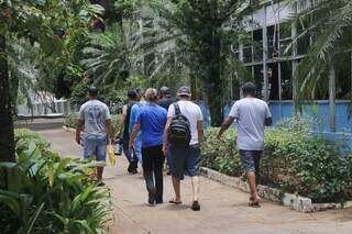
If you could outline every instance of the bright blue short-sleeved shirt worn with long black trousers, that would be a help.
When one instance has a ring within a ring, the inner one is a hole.
[[[166,121],[167,112],[164,108],[152,103],[147,103],[142,107],[135,122],[141,124],[142,147],[163,144],[163,134]]]

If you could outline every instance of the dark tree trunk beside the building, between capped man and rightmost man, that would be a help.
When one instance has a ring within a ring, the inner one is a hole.
[[[223,121],[222,111],[222,89],[221,89],[221,68],[220,68],[220,53],[221,41],[216,31],[211,33],[210,52],[204,55],[206,58],[205,70],[206,75],[206,92],[208,97],[208,105],[211,116],[211,125],[220,126]],[[206,49],[207,51],[207,49]]]

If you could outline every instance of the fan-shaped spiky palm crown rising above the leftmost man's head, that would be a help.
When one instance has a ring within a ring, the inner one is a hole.
[[[103,33],[91,33],[84,48],[81,65],[94,78],[94,85],[113,85],[129,77],[133,66],[133,52],[139,43],[138,34],[132,34],[132,24],[110,26]]]

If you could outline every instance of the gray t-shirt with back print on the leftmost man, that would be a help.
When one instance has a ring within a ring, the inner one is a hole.
[[[107,136],[106,121],[110,120],[108,107],[99,100],[89,100],[80,107],[78,119],[84,121],[85,136]]]

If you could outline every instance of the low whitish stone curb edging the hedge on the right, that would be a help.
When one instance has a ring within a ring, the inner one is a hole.
[[[218,172],[216,170],[209,169],[207,167],[201,167],[200,172],[202,176],[221,182],[223,185],[240,189],[244,192],[250,192],[250,187],[248,182],[243,181],[239,177],[230,177],[224,174]],[[285,207],[289,207],[290,209],[301,212],[317,212],[317,211],[326,211],[333,209],[344,209],[351,208],[352,201],[348,201],[344,204],[341,203],[312,203],[310,198],[300,197],[297,194],[286,193],[280,191],[279,189],[274,189],[267,186],[257,186],[258,194],[273,202],[280,203]]]

